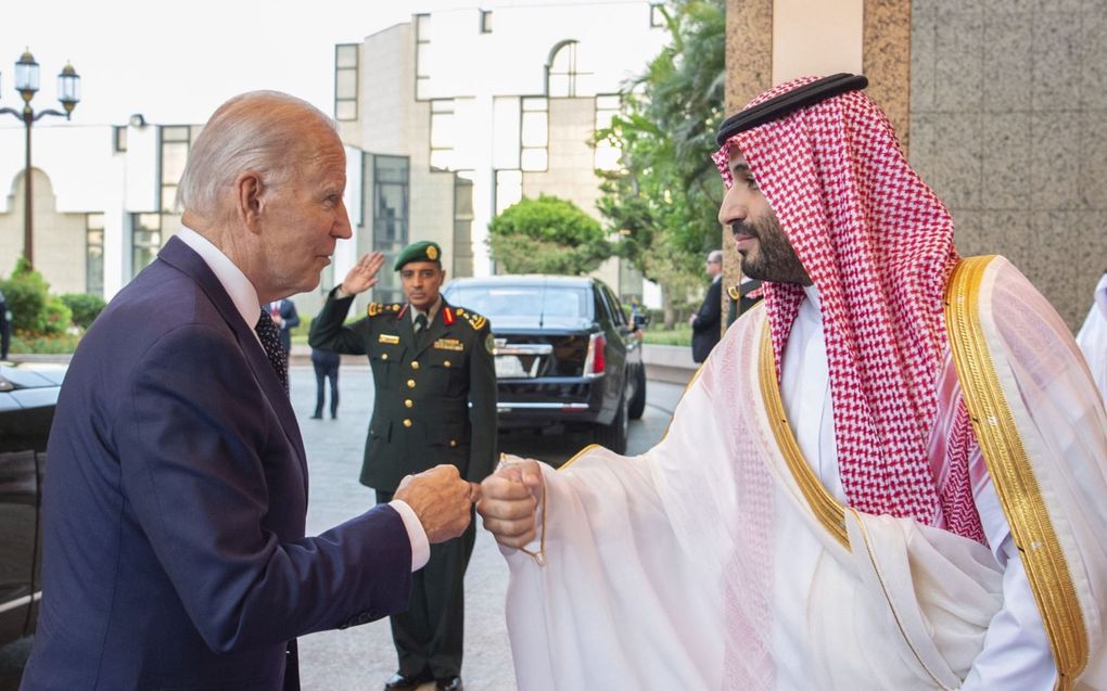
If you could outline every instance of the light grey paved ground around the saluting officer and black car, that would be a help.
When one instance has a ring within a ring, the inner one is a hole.
[[[308,532],[322,532],[373,503],[373,493],[358,483],[365,427],[372,407],[372,383],[368,367],[343,365],[339,387],[338,420],[312,420],[315,385],[310,367],[293,366],[292,404],[300,419],[311,467],[311,502]],[[641,420],[630,426],[630,453],[652,447],[664,433],[682,386],[651,381]],[[510,453],[560,463],[590,440],[579,436],[508,435],[500,448]],[[515,689],[511,653],[504,624],[507,567],[495,542],[483,528],[465,579],[465,668],[468,691]],[[24,639],[0,648],[0,691],[13,691],[30,650]],[[300,639],[301,679],[308,691],[363,691],[380,689],[395,671],[395,650],[386,620],[348,629],[325,631]],[[424,689],[431,690],[433,684]]]

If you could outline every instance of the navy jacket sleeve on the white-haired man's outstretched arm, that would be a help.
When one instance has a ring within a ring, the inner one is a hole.
[[[294,446],[226,331],[180,326],[135,363],[114,430],[123,486],[185,610],[216,652],[361,624],[407,606],[411,543],[374,507],[282,542],[273,482]],[[197,376],[201,373],[203,376]],[[303,484],[302,482],[300,484]],[[303,491],[306,491],[303,484]]]

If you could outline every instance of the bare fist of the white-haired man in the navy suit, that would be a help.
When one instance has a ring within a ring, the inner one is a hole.
[[[435,465],[400,482],[393,499],[406,502],[433,545],[458,537],[469,526],[480,485],[462,480],[455,465]]]

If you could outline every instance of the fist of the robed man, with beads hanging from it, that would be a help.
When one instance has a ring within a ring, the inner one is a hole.
[[[501,465],[480,483],[477,513],[496,542],[518,549],[535,538],[544,482],[538,461],[528,460]]]

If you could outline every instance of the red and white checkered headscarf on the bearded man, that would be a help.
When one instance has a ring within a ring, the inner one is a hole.
[[[746,107],[816,78],[782,84]],[[952,473],[941,488],[927,451],[946,350],[943,294],[958,261],[945,206],[907,163],[888,118],[859,91],[732,137],[713,157],[727,187],[731,146],[742,151],[819,291],[839,473],[850,505],[982,540],[964,491],[971,430],[945,450],[941,461]],[[764,290],[779,377],[804,293],[772,282]]]

